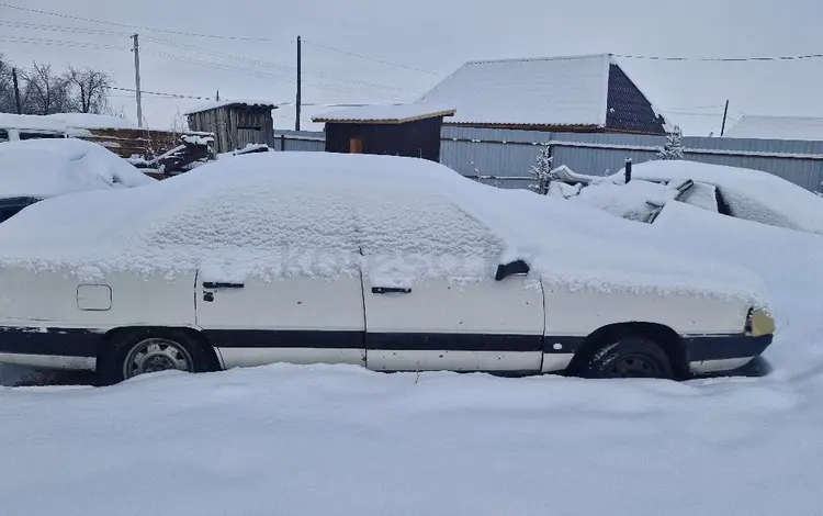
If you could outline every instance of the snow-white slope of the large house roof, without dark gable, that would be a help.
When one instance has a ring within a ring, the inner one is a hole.
[[[611,55],[469,61],[422,96],[450,123],[606,126]]]

